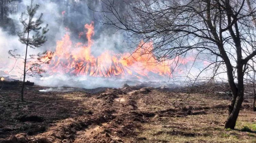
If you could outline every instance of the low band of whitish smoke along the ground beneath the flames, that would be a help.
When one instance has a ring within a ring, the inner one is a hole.
[[[161,87],[165,86],[167,88],[174,88],[179,86],[178,83],[170,84],[169,82],[165,82],[164,80],[159,81],[148,81],[148,80],[120,80],[120,78],[104,78],[104,77],[88,77],[88,76],[79,76],[79,77],[70,77],[65,75],[55,75],[55,76],[47,76],[37,79],[41,86],[50,86],[50,87],[59,87],[59,88],[48,88],[41,91],[67,91],[72,90],[73,88],[63,89],[63,87],[81,87],[87,89],[94,89],[97,87],[112,87],[112,88],[120,88],[125,83],[132,86],[140,86],[140,87]],[[49,84],[50,82],[50,84]]]

